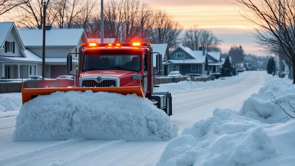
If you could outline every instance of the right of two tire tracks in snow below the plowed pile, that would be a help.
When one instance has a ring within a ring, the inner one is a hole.
[[[76,153],[75,155],[72,155],[71,157],[68,157],[67,159],[64,160],[59,160],[58,162],[54,162],[50,164],[50,166],[63,166],[67,165],[75,160],[83,159],[86,156],[89,156],[93,153],[98,153],[102,152],[106,149],[110,149],[111,147],[117,147],[117,145],[122,144],[124,142],[127,142],[125,140],[115,140],[115,141],[110,141],[105,144],[99,144],[98,146],[90,149],[83,150],[81,152]],[[71,165],[71,164],[69,164]]]

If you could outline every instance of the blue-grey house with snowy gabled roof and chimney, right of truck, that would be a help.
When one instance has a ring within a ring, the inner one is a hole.
[[[221,63],[220,52],[207,52],[205,47],[200,50],[191,50],[179,46],[170,52],[170,59],[164,62],[167,73],[180,71],[186,75],[219,73]]]

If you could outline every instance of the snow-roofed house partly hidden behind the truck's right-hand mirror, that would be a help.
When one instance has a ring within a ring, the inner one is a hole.
[[[151,47],[153,48],[153,52],[158,52],[162,55],[162,61],[167,61],[168,58],[170,58],[170,53],[169,53],[169,49],[168,49],[168,44],[164,43],[164,44],[151,44]],[[158,71],[156,71],[156,56],[157,53],[153,54],[153,66],[154,66],[154,71],[155,73],[158,73]],[[165,68],[163,68],[162,72],[160,73],[160,75],[167,75],[167,73],[165,73]]]

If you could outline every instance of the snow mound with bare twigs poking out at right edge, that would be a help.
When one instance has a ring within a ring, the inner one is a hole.
[[[263,123],[286,122],[289,118],[273,103],[274,97],[288,114],[295,116],[293,110],[290,110],[290,104],[295,107],[295,85],[285,78],[271,78],[266,86],[260,88],[258,94],[253,94],[244,101],[239,113]]]

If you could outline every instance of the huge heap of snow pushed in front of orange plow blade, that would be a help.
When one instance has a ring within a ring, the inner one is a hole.
[[[178,127],[151,101],[132,95],[92,91],[38,96],[20,109],[14,140],[169,140]]]

